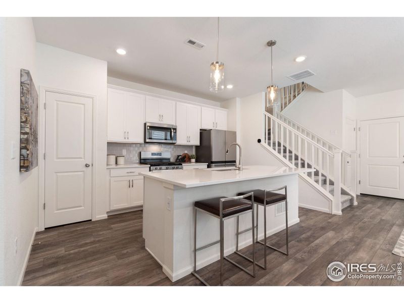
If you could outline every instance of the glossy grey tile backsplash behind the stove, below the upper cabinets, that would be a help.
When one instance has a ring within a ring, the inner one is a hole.
[[[185,150],[189,155],[195,154],[195,146],[174,144],[134,144],[134,143],[107,143],[107,154],[122,156],[122,150],[126,150],[125,163],[138,163],[139,151],[170,151],[171,161],[175,161],[177,155],[182,155]],[[106,160],[107,161],[107,160]]]

